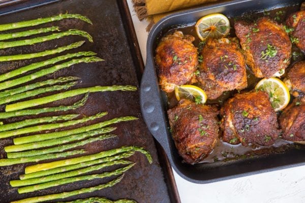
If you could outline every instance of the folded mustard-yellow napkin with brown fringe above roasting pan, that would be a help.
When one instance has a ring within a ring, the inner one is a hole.
[[[149,21],[147,31],[161,18],[176,10],[219,1],[221,0],[132,0],[139,20]]]

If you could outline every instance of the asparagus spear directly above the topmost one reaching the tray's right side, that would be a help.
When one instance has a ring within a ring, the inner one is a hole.
[[[63,84],[63,85],[53,85],[53,86],[50,86],[50,87],[43,87],[43,88],[39,88],[39,89],[31,90],[31,91],[26,91],[26,92],[22,92],[22,93],[19,93],[19,94],[15,94],[15,95],[12,95],[12,96],[7,96],[7,97],[4,97],[4,98],[0,98],[0,105],[8,104],[8,103],[11,103],[12,101],[17,101],[17,100],[20,100],[20,99],[23,99],[23,98],[36,96],[36,95],[43,94],[43,93],[46,93],[46,92],[53,92],[53,91],[68,89],[69,87],[72,87],[76,84],[77,84],[77,81],[74,81],[74,82]]]

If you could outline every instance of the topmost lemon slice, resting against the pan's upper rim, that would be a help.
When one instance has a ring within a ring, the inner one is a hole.
[[[214,13],[200,18],[195,29],[202,41],[207,38],[222,38],[230,32],[230,22],[223,14]]]

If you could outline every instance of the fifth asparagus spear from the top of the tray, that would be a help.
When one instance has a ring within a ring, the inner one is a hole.
[[[0,81],[8,80],[12,77],[19,76],[28,71],[33,71],[35,69],[38,69],[39,67],[54,64],[54,63],[57,63],[59,61],[63,61],[63,60],[69,59],[69,58],[79,57],[79,56],[93,56],[93,55],[96,55],[96,53],[94,53],[92,51],[81,51],[81,52],[77,52],[77,53],[66,54],[63,56],[57,56],[57,57],[54,57],[54,58],[51,58],[48,60],[32,63],[29,65],[20,67],[19,69],[2,74],[2,75],[0,75]]]

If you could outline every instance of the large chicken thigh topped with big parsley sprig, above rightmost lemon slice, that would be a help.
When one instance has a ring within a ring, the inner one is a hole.
[[[256,23],[237,21],[234,28],[240,45],[245,50],[246,63],[257,78],[270,78],[285,73],[290,63],[291,41],[283,26],[263,17]]]

